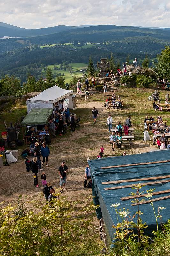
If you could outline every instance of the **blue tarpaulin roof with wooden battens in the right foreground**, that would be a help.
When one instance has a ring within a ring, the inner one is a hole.
[[[106,230],[112,240],[114,238],[115,229],[112,228],[113,225],[117,224],[117,217],[115,214],[115,209],[110,207],[111,204],[120,203],[119,208],[125,207],[129,209],[130,215],[137,211],[137,206],[132,206],[131,200],[122,201],[120,198],[124,196],[129,196],[129,194],[134,190],[132,188],[122,188],[115,190],[104,190],[104,188],[122,186],[128,184],[138,184],[149,182],[148,180],[138,181],[138,182],[124,182],[119,184],[109,184],[102,185],[102,182],[114,181],[114,180],[128,180],[142,177],[152,177],[152,176],[163,176],[170,174],[170,162],[167,163],[157,163],[157,164],[147,164],[147,165],[133,165],[127,167],[116,167],[116,168],[107,168],[101,169],[101,167],[114,166],[114,165],[124,165],[124,164],[137,164],[137,163],[146,163],[146,162],[156,162],[170,159],[170,150],[162,150],[156,152],[149,152],[143,154],[135,154],[128,156],[117,156],[102,158],[98,160],[88,161],[91,176],[92,176],[92,194],[94,196],[94,203],[100,204],[100,208],[97,210],[97,217],[101,219],[103,217]],[[165,178],[162,180],[170,180],[170,178]],[[151,181],[151,180],[150,180]],[[157,180],[153,180],[157,181]],[[155,188],[156,191],[163,191],[170,189],[170,182],[159,183],[153,185],[146,185],[141,190],[146,193],[146,190]],[[154,195],[153,198],[158,198],[162,196],[170,195],[161,194]],[[142,199],[142,198],[141,198]],[[145,200],[149,200],[145,198]],[[170,199],[161,200],[153,202],[156,213],[158,214],[158,207],[165,207],[166,209],[162,210],[162,221],[165,223],[170,218]],[[143,223],[146,222],[148,228],[144,230],[144,233],[147,235],[152,235],[152,231],[156,230],[156,220],[154,217],[153,209],[150,203],[142,204],[139,206],[139,209],[144,214],[141,215]],[[137,216],[134,219],[137,223]],[[159,219],[158,219],[159,221]],[[160,228],[160,221],[159,221]]]

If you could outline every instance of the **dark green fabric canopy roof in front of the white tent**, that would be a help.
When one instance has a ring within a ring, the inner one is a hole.
[[[53,108],[33,108],[22,121],[22,126],[48,124]]]

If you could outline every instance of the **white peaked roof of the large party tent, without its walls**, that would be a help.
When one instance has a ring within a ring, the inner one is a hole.
[[[72,90],[65,90],[55,85],[26,101],[51,101],[52,103],[54,103],[69,96],[71,93],[73,93]]]

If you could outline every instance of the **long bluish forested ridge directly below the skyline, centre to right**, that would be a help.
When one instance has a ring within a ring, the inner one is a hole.
[[[150,36],[163,41],[170,41],[170,31],[167,29],[149,29],[138,27],[122,27],[114,25],[100,25],[91,26],[85,28],[77,28],[74,30],[62,31],[46,36],[37,36],[29,38],[33,44],[42,43],[60,43],[68,41],[90,41],[90,42],[102,42],[108,40],[120,40],[129,37],[146,37]]]

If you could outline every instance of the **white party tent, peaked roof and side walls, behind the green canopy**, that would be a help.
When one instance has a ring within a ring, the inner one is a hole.
[[[53,103],[62,100],[64,98],[69,99],[68,108],[75,109],[75,95],[72,90],[65,90],[58,86],[50,87],[37,96],[26,100],[28,113],[33,108],[53,108]],[[74,99],[73,99],[74,98]],[[74,102],[73,102],[74,101]]]

